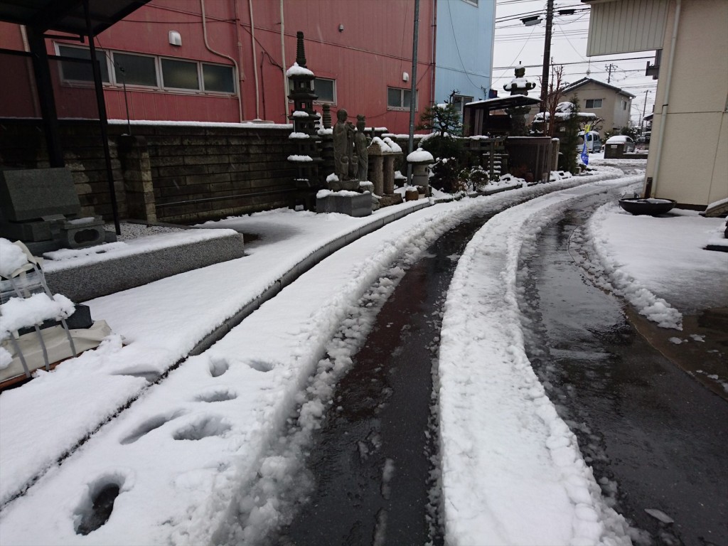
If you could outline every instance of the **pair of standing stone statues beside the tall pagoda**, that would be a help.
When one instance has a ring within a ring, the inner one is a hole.
[[[365,181],[369,169],[369,139],[364,134],[365,119],[357,115],[355,130],[354,125],[347,122],[348,116],[344,108],[336,112],[336,124],[333,126],[334,174],[339,181]]]

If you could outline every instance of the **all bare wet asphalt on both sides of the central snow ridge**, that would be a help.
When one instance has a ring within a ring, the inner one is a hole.
[[[636,543],[728,546],[728,403],[653,349],[568,251],[615,198],[587,198],[542,230],[521,279],[529,358]],[[456,256],[484,221],[441,237],[385,304],[314,435],[314,491],[275,543],[443,543],[432,366]]]

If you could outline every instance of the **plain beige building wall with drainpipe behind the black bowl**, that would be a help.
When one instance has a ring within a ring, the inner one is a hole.
[[[703,208],[728,198],[728,1],[681,2],[669,103],[662,106],[675,7],[670,0],[645,190],[652,178],[652,197]]]

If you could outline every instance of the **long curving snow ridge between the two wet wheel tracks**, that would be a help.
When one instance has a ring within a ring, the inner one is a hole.
[[[602,191],[604,183],[590,184],[505,210],[458,262],[439,361],[450,545],[630,544],[625,521],[606,506],[576,437],[531,368],[517,301],[523,240],[566,203]]]

